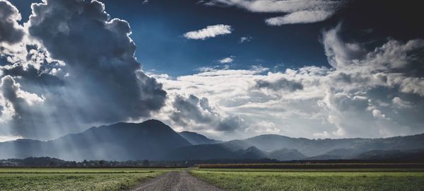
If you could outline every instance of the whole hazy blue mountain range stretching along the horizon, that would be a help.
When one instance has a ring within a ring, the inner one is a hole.
[[[264,134],[218,141],[195,132],[175,132],[158,120],[92,127],[51,141],[0,142],[0,158],[49,156],[68,161],[259,159],[279,161],[396,159],[424,154],[424,134],[379,139],[305,139]]]

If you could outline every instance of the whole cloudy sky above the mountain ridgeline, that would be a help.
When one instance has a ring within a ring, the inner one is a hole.
[[[424,132],[418,1],[0,0],[0,141],[155,118],[214,139]]]

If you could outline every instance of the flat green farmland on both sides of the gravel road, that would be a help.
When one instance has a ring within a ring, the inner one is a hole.
[[[160,183],[158,185],[163,185],[163,182],[177,185],[185,185],[187,181],[193,183],[193,179],[184,176],[184,173],[189,171],[191,175],[206,183],[231,191],[424,190],[424,168],[420,168],[420,164],[292,165],[216,164],[182,169],[0,168],[0,190],[129,190],[171,170],[179,172],[168,173],[161,176],[162,179],[156,179],[156,182]],[[223,166],[227,168],[218,168]],[[413,168],[416,166],[418,168]],[[181,181],[185,182],[179,183]],[[196,186],[198,185],[192,187]]]

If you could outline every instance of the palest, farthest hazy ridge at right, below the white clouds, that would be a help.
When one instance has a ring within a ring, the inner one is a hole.
[[[411,150],[424,149],[424,134],[379,139],[305,139],[291,138],[276,134],[264,134],[244,140],[228,141],[230,148],[247,149],[256,146],[263,151],[297,149],[305,156],[318,156],[330,151],[355,151],[361,153],[372,150]],[[330,153],[331,154],[331,153]],[[343,154],[344,155],[344,154]]]

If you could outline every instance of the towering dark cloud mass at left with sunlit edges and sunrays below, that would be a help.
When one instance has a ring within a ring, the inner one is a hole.
[[[1,105],[12,112],[1,115],[3,132],[51,139],[163,108],[167,93],[136,61],[129,23],[111,19],[104,4],[57,0],[31,8],[28,37],[1,52],[7,58],[2,77],[10,85],[3,102],[11,103]]]

